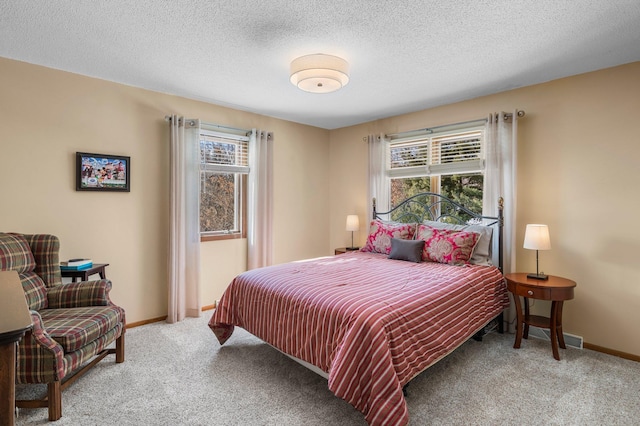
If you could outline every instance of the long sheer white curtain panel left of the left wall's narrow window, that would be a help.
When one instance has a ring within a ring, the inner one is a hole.
[[[200,121],[171,116],[169,309],[167,322],[198,317],[200,301]]]

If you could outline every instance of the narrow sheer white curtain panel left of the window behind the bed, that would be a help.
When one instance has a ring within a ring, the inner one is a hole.
[[[368,202],[368,224],[373,216],[371,200],[376,199],[376,210],[379,212],[389,211],[389,178],[387,176],[387,151],[388,140],[384,135],[369,135],[367,144],[369,146],[369,199]]]

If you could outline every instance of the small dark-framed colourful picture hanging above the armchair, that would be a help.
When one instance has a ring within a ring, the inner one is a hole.
[[[76,152],[76,191],[131,191],[131,158]]]

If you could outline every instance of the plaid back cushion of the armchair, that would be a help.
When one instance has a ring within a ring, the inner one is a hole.
[[[0,233],[0,270],[16,271],[29,309],[40,310],[47,307],[47,288],[35,269],[36,260],[25,236]]]

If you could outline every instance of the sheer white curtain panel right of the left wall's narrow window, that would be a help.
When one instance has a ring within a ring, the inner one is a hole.
[[[247,268],[272,264],[273,133],[253,129],[249,138]]]

